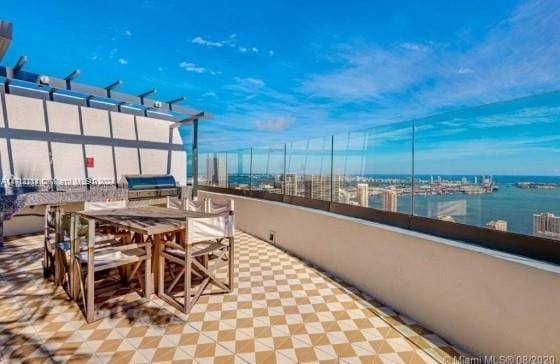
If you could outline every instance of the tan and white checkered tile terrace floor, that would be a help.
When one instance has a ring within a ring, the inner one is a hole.
[[[243,232],[234,293],[158,298],[87,324],[42,277],[39,235],[0,251],[0,362],[421,363],[461,354],[352,286]],[[449,361],[448,361],[449,362]]]

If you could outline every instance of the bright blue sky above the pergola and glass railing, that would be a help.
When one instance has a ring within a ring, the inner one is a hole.
[[[15,33],[4,63],[25,54],[32,71],[79,68],[82,82],[184,95],[215,115],[203,150],[385,127],[560,85],[556,0],[16,4],[1,15]]]

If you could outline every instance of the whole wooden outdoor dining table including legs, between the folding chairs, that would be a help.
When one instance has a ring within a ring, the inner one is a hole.
[[[189,223],[189,219],[194,221],[205,221],[210,222],[212,225],[212,220],[218,220],[223,214],[207,213],[207,212],[197,212],[197,211],[186,211],[179,209],[170,209],[157,206],[147,206],[147,207],[134,207],[134,208],[118,208],[118,209],[105,209],[96,211],[79,211],[75,213],[77,216],[86,219],[90,224],[98,222],[105,225],[111,225],[119,229],[130,231],[135,233],[134,239],[142,239],[143,241],[151,240],[153,242],[153,255],[152,255],[152,279],[151,287],[146,287],[148,296],[154,292],[153,288],[157,289],[158,279],[158,269],[159,266],[159,245],[162,238],[169,233],[177,233],[177,236],[181,236],[181,233],[185,231]],[[196,226],[196,225],[195,225]],[[190,232],[189,235],[195,235],[192,240],[196,240],[196,230]],[[190,243],[184,238],[183,244]],[[77,239],[73,239],[77,241]],[[71,244],[71,254],[70,259],[74,259],[77,246],[75,243]],[[71,262],[73,264],[73,262]],[[88,276],[93,277],[93,267],[88,266]],[[76,281],[77,277],[71,277],[71,291],[72,296],[76,298]]]

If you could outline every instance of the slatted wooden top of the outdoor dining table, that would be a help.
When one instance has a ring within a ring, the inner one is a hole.
[[[220,214],[157,206],[79,211],[77,214],[86,219],[95,219],[105,224],[119,226],[145,235],[163,234],[184,229],[188,218],[220,216]]]

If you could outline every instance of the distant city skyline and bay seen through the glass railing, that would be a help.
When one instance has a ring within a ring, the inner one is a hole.
[[[560,179],[530,182],[512,177],[505,183],[496,183],[492,176],[484,175],[423,177],[415,186],[414,213],[410,210],[410,180],[391,176],[335,175],[332,196],[330,175],[228,173],[228,186],[332,199],[344,204],[560,240],[560,210],[555,203],[560,200]]]

